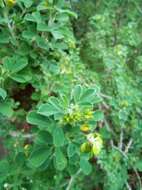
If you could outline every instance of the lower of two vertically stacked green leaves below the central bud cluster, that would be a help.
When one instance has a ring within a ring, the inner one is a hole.
[[[60,148],[55,149],[55,168],[62,171],[67,166],[67,159]]]

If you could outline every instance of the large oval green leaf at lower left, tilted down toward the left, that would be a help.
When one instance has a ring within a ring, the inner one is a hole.
[[[51,155],[51,150],[48,147],[38,148],[31,153],[28,165],[31,168],[39,168]]]

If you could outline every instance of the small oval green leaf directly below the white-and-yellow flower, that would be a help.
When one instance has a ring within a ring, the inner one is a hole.
[[[89,175],[92,171],[92,166],[91,164],[88,162],[88,160],[84,157],[82,157],[80,159],[80,168],[82,169],[83,173],[85,175]]]

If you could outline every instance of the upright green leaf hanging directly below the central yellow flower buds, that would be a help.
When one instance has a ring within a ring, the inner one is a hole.
[[[61,127],[55,127],[53,130],[53,144],[56,147],[63,146],[65,141],[64,132]]]

